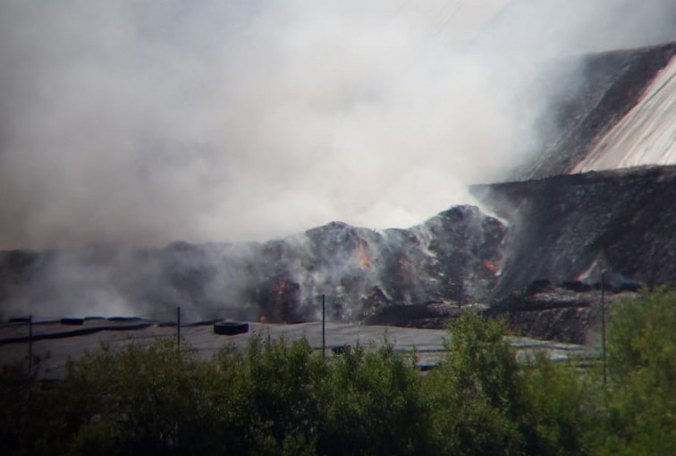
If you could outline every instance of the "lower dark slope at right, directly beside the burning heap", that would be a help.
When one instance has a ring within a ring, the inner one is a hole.
[[[480,185],[474,193],[510,222],[494,298],[537,279],[676,285],[676,167]]]

